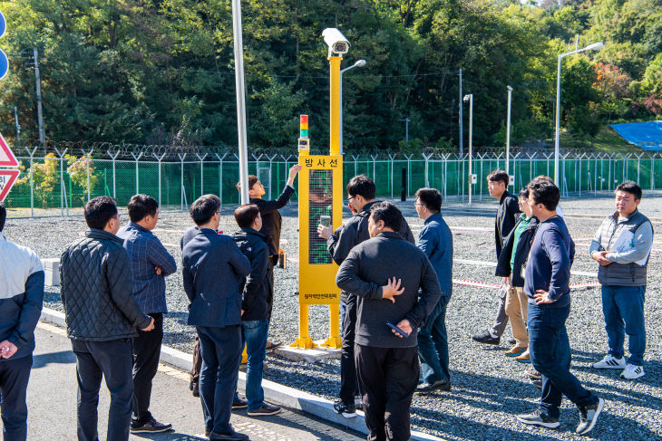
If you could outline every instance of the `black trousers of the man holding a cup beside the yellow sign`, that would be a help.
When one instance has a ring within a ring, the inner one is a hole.
[[[343,296],[343,347],[340,350],[340,398],[346,405],[354,404],[356,395],[356,366],[354,360],[354,336],[356,328],[356,296]]]

